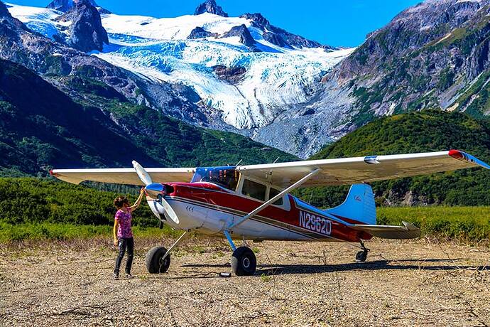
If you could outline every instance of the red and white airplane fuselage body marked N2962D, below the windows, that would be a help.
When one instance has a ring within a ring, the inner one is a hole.
[[[179,223],[166,219],[175,229],[195,230],[208,235],[223,235],[234,221],[244,217],[263,202],[222,188],[214,183],[165,183],[163,198],[178,215]],[[349,227],[356,221],[344,220],[308,205],[287,194],[283,200],[229,230],[233,237],[248,240],[314,240],[359,242],[371,235]],[[160,219],[165,209],[158,200],[148,198],[148,205]]]

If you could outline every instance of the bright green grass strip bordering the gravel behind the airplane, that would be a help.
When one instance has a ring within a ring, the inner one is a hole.
[[[380,225],[400,225],[405,220],[421,228],[423,235],[449,240],[480,242],[490,240],[490,207],[410,207],[378,208]],[[134,227],[137,237],[175,237],[178,231],[164,227]],[[97,236],[111,237],[111,225],[71,225],[66,223],[0,223],[0,242],[23,240],[71,240]]]

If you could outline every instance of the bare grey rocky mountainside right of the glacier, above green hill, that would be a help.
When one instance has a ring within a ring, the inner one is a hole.
[[[330,73],[357,124],[425,108],[490,114],[490,0],[428,0],[398,14]]]

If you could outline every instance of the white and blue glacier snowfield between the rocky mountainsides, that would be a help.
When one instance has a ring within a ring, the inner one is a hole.
[[[168,114],[192,124],[249,134],[304,155],[305,149],[284,146],[283,136],[271,134],[267,139],[261,130],[281,114],[302,110],[321,90],[322,77],[352,49],[295,36],[260,14],[227,17],[213,0],[205,4],[195,15],[175,18],[102,13],[109,45],[92,54],[152,82],[192,88],[208,119]],[[12,16],[33,31],[55,40],[67,39],[70,21],[60,20],[60,11],[10,6]]]

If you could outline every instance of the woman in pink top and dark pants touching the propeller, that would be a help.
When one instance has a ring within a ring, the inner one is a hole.
[[[114,246],[119,247],[119,254],[116,257],[116,267],[114,267],[114,279],[119,279],[119,267],[124,257],[124,252],[128,250],[128,258],[126,259],[126,277],[133,278],[131,275],[131,264],[134,257],[134,240],[133,231],[131,230],[131,213],[136,210],[143,199],[145,189],[141,188],[138,200],[134,205],[129,205],[129,200],[125,196],[118,196],[114,200],[114,205],[117,208],[116,216],[114,217]]]

